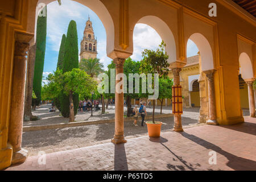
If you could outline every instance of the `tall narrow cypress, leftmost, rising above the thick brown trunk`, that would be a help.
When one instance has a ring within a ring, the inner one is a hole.
[[[42,11],[45,11],[47,14],[46,7],[44,7],[44,10]],[[46,53],[46,29],[47,15],[38,16],[38,23],[36,27],[36,58],[33,80],[33,90],[35,92],[36,99],[33,101],[33,105],[39,105],[41,101],[44,55]]]

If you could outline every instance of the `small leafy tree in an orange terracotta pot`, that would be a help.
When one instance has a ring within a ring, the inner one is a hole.
[[[155,78],[155,74],[159,75],[159,78],[166,78],[168,76],[168,55],[164,51],[166,44],[162,41],[156,51],[149,49],[144,49],[142,52],[142,63],[141,63],[141,72],[151,73],[152,74],[152,88],[155,88],[155,81],[158,79]],[[159,91],[159,90],[158,90]],[[146,122],[148,136],[149,137],[160,137],[162,122],[155,121],[155,100],[158,98],[153,98],[153,113],[152,121]]]

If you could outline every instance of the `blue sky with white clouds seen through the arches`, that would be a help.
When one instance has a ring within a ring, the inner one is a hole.
[[[88,7],[75,1],[61,0],[61,6],[59,6],[57,1],[54,1],[47,5],[47,38],[44,76],[56,70],[61,38],[63,34],[67,35],[68,24],[71,20],[75,20],[77,24],[80,53],[80,42],[84,34],[85,23],[88,20],[88,16],[90,16],[90,20],[92,21],[94,35],[97,37],[97,57],[100,59],[101,63],[104,64],[105,69],[108,64],[111,63],[112,59],[106,56],[106,31],[97,14]],[[141,54],[145,48],[156,49],[161,42],[158,33],[146,24],[136,24],[133,38],[134,52],[131,59],[136,61],[142,59]],[[188,57],[197,54],[198,49],[191,40],[188,41],[187,47]]]

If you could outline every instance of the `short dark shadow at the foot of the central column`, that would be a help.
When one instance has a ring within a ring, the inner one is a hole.
[[[114,171],[128,171],[125,144],[115,144]]]

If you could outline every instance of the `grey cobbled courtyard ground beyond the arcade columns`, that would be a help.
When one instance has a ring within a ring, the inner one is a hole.
[[[48,105],[49,106],[49,105]],[[58,123],[68,122],[68,118],[59,117],[56,113],[48,113],[48,106],[42,106],[33,114],[38,114],[42,120],[36,122],[24,122],[26,124],[33,123],[33,125],[42,125],[42,123]],[[151,109],[152,110],[152,109]],[[148,111],[151,111],[148,109]],[[159,109],[156,109],[158,112]],[[96,117],[87,118],[95,120],[97,118],[113,118],[114,109],[107,110],[109,114]],[[164,107],[163,113],[170,113],[168,107]],[[248,114],[248,111],[243,111]],[[90,113],[79,113],[76,119],[85,119]],[[195,125],[199,117],[199,108],[184,109],[182,115],[183,126]],[[76,120],[84,121],[84,120]],[[173,129],[174,118],[162,118],[157,121],[163,122],[162,131]],[[138,122],[139,126],[134,126],[133,122],[125,122],[125,136],[126,138],[140,137],[147,134],[147,127],[140,126],[141,121]],[[22,147],[29,151],[28,155],[38,155],[39,151],[46,153],[71,150],[73,148],[80,148],[85,146],[92,146],[94,144],[110,142],[114,135],[114,123],[106,123],[101,125],[89,125],[79,127],[69,127],[64,129],[50,129],[41,131],[26,131],[23,132]]]

